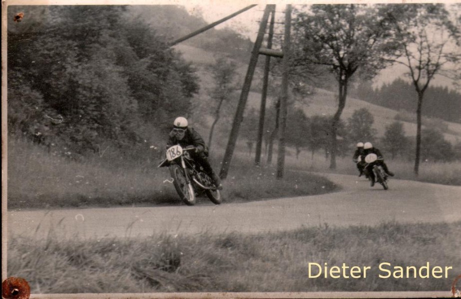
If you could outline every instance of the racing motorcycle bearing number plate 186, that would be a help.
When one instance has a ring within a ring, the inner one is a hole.
[[[195,147],[172,146],[166,150],[166,158],[158,167],[169,168],[174,188],[185,204],[194,205],[197,196],[202,194],[214,204],[220,204],[221,193],[203,167],[192,159],[190,151],[195,151]]]

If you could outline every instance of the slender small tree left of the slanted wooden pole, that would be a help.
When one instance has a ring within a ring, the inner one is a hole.
[[[215,64],[208,67],[213,79],[213,88],[208,91],[212,99],[212,106],[208,109],[214,110],[213,123],[208,135],[208,147],[211,148],[211,140],[216,124],[221,117],[221,111],[226,102],[232,99],[232,94],[238,90],[235,82],[237,75],[237,64],[230,59],[219,57]]]

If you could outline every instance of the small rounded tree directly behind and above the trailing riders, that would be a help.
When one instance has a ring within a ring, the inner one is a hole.
[[[352,117],[348,119],[348,140],[354,144],[373,142],[376,135],[376,129],[372,128],[373,123],[373,115],[367,108],[355,110]]]

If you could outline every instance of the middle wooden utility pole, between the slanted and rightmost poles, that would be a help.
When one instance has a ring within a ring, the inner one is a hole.
[[[274,35],[274,22],[275,22],[275,5],[274,9],[271,11],[271,22],[269,24],[269,36],[267,38],[267,49],[272,48],[272,37]],[[262,53],[264,50],[259,49],[259,52]],[[263,134],[264,134],[264,119],[266,115],[266,98],[267,98],[267,85],[269,81],[269,68],[271,63],[271,56],[266,56],[266,62],[264,65],[264,78],[263,78],[263,90],[261,95],[261,106],[259,109],[259,130],[258,130],[258,141],[256,142],[256,154],[255,154],[255,164],[259,165],[261,163],[261,147],[263,144]]]

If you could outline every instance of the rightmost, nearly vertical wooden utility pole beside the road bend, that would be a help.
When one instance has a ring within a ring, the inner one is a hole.
[[[282,92],[280,96],[280,134],[279,152],[277,156],[277,179],[283,177],[283,169],[285,167],[285,131],[287,127],[288,74],[290,70],[290,30],[291,5],[287,4],[285,9],[285,35],[282,49]]]

